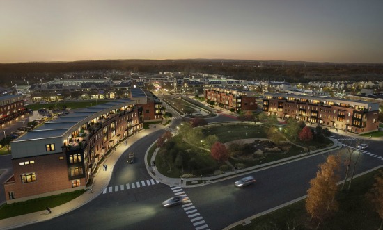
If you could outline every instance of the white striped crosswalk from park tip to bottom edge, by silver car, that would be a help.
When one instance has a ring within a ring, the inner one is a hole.
[[[174,195],[186,195],[185,191],[181,187],[171,186],[171,190],[173,190]],[[190,199],[187,199],[186,204],[182,204],[182,208],[184,208],[187,217],[189,217],[190,222],[192,222],[196,230],[210,230],[208,224],[206,224],[205,220],[203,220],[203,217],[200,213],[198,213],[197,208]]]

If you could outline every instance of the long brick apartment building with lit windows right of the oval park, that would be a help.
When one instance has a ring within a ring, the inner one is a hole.
[[[352,133],[368,133],[379,128],[379,104],[331,97],[265,94],[263,112],[281,120],[289,117]]]

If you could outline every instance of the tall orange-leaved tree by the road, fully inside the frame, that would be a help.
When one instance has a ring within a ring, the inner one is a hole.
[[[321,222],[338,211],[338,202],[335,200],[338,186],[338,170],[340,160],[338,156],[330,155],[325,163],[321,164],[317,176],[310,181],[310,188],[307,190],[306,211],[311,215],[311,220],[318,222],[318,229]]]

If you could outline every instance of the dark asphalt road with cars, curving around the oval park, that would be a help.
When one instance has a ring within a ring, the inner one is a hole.
[[[152,133],[125,151],[116,164],[109,186],[150,179],[143,166],[143,154],[161,133]],[[370,152],[380,153],[379,142],[370,141],[369,144]],[[136,153],[136,163],[132,165],[126,163],[129,151]],[[326,157],[327,154],[308,156],[246,174],[254,176],[257,181],[244,188],[233,186],[234,181],[244,176],[237,175],[207,186],[183,190],[208,227],[222,229],[233,222],[306,195],[308,182],[315,177],[318,165]],[[362,154],[357,173],[382,165],[382,162],[376,157]],[[162,183],[108,192],[71,213],[22,229],[195,229],[189,214],[181,206],[162,207],[162,201],[173,196],[171,187]]]

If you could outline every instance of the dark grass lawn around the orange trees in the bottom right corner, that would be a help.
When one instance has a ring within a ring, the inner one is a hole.
[[[327,222],[320,225],[319,229],[377,229],[382,221],[373,212],[373,208],[365,199],[365,194],[373,184],[373,177],[377,173],[370,172],[359,176],[352,181],[352,190],[338,192],[336,199],[339,202],[339,211]],[[340,188],[340,186],[339,186]],[[306,213],[305,201],[299,201],[284,208],[262,215],[251,220],[250,224],[233,227],[233,230],[244,229],[288,229],[292,222],[300,223],[295,230],[315,229],[310,228],[310,217]]]

